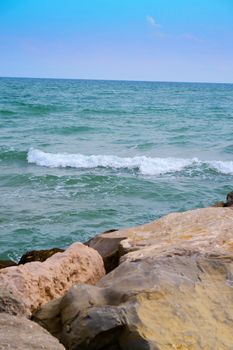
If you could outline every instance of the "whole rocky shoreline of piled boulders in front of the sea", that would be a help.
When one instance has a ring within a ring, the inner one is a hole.
[[[232,349],[232,199],[0,262],[0,349]]]

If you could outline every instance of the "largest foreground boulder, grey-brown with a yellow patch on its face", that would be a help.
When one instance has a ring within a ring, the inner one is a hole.
[[[68,350],[230,350],[230,276],[232,256],[126,261],[97,286],[77,284],[35,318]]]

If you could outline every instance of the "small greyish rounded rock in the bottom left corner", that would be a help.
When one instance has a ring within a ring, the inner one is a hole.
[[[6,313],[0,313],[0,349],[65,350],[56,338],[38,324]]]

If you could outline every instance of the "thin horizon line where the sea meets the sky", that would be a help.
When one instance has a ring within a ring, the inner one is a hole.
[[[137,79],[97,79],[97,78],[61,78],[61,77],[30,77],[30,76],[0,76],[0,79],[51,79],[51,80],[85,80],[85,81],[119,81],[135,83],[180,83],[180,84],[228,84],[233,82],[209,82],[209,81],[177,81],[177,80],[137,80]]]

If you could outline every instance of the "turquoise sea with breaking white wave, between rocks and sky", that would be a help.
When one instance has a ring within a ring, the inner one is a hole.
[[[0,258],[233,189],[233,85],[0,78]]]

